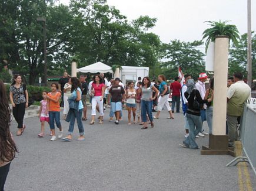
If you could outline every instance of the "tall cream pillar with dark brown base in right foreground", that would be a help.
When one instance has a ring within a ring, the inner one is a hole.
[[[226,135],[228,46],[228,36],[216,37],[212,134],[209,135],[209,146],[202,146],[201,155],[235,156],[234,149],[228,147],[228,135]]]

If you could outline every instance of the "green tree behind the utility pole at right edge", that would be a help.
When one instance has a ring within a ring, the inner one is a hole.
[[[240,71],[247,74],[247,33],[241,35],[237,46],[230,48],[230,58],[228,59],[228,74],[232,76]],[[256,35],[252,32],[252,79],[256,79]]]

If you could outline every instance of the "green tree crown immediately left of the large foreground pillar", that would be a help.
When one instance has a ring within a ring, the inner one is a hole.
[[[162,73],[167,79],[173,79],[178,76],[178,67],[185,74],[190,74],[194,79],[198,74],[205,71],[204,53],[197,49],[202,45],[202,41],[181,42],[172,40],[171,43],[162,45]]]

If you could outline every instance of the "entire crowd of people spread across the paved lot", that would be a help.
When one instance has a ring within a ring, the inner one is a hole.
[[[105,105],[110,107],[109,121],[119,124],[122,121],[124,107],[128,110],[128,125],[140,124],[141,129],[147,129],[148,124],[151,128],[155,126],[154,120],[158,120],[163,109],[168,111],[169,120],[174,119],[174,110],[179,112],[180,100],[182,101],[182,111],[184,114],[185,139],[184,148],[198,149],[199,146],[195,138],[205,137],[212,134],[212,112],[214,100],[214,78],[210,80],[209,88],[205,88],[207,74],[200,73],[197,83],[186,74],[183,84],[176,77],[174,82],[168,86],[164,75],[159,75],[157,80],[151,81],[149,77],[138,77],[135,83],[129,81],[126,86],[119,78],[107,80],[103,73],[96,74],[87,83],[87,76],[69,77],[68,73],[58,83],[51,84],[51,92],[42,92],[41,107],[39,110],[39,120],[41,122],[41,132],[38,137],[45,137],[45,125],[48,123],[51,129],[50,141],[57,138],[64,141],[71,141],[74,132],[75,120],[79,130],[78,141],[84,141],[84,123],[87,121],[87,99],[91,103],[91,122],[94,125],[98,112],[99,124],[103,124]],[[242,115],[243,104],[250,98],[251,88],[242,80],[241,73],[235,73],[228,78],[227,90],[227,134],[229,136],[229,146],[234,146],[237,138],[237,124]],[[18,124],[17,136],[24,133],[25,108],[28,107],[28,91],[22,83],[20,75],[14,76],[14,81],[9,90],[9,100],[12,105],[12,112]],[[169,104],[172,98],[172,106]],[[0,183],[1,190],[8,175],[9,165],[18,152],[15,142],[12,139],[9,125],[11,122],[11,110],[6,96],[5,85],[0,80]],[[157,106],[157,111],[155,107]],[[63,118],[69,122],[68,135],[63,137],[61,125],[61,107],[64,107]],[[157,112],[155,116],[152,112]],[[115,117],[115,119],[114,119]],[[207,121],[209,131],[202,129],[202,124]],[[59,129],[55,133],[55,124]]]

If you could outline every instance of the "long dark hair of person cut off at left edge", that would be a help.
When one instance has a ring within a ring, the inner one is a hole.
[[[9,162],[18,152],[10,132],[11,110],[6,95],[5,85],[0,80],[0,161]]]

